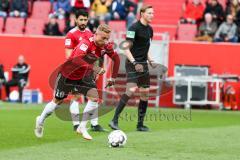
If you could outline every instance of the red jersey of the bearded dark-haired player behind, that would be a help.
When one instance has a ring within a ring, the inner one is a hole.
[[[74,49],[83,39],[89,39],[93,34],[89,29],[81,31],[78,27],[71,29],[65,38],[65,48]]]

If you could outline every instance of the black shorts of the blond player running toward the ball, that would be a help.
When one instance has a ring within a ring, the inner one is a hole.
[[[92,88],[97,88],[93,75],[85,76],[81,80],[71,80],[59,73],[55,82],[54,96],[59,100],[66,98],[68,94],[86,96]]]

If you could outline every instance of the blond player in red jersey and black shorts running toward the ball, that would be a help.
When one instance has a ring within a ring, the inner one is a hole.
[[[107,54],[113,60],[112,78],[108,80],[107,86],[111,86],[117,77],[120,60],[118,54],[113,49],[113,44],[109,43],[111,29],[108,25],[102,24],[98,27],[93,37],[83,39],[73,50],[68,60],[59,67],[58,76],[55,80],[54,98],[44,108],[40,116],[36,118],[35,135],[38,138],[43,136],[43,125],[45,119],[53,113],[69,93],[84,94],[92,101],[88,108],[95,110],[98,108],[98,91],[94,79],[94,74],[103,74],[103,68],[94,65],[94,62]],[[86,129],[90,110],[84,111],[83,121],[77,128],[83,138],[91,140],[92,137]]]

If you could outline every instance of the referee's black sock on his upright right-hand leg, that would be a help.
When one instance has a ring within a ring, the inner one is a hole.
[[[138,105],[138,127],[143,126],[144,117],[147,112],[148,101],[140,100]]]

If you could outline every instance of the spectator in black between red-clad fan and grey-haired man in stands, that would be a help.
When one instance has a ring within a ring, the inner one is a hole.
[[[221,24],[224,20],[224,11],[222,5],[218,2],[218,0],[209,0],[206,3],[207,7],[204,11],[204,14],[211,13],[213,16],[213,20],[219,24]]]

